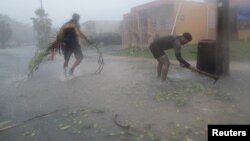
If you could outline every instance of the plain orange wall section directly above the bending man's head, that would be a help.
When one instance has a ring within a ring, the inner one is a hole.
[[[175,6],[175,13],[179,9]],[[177,18],[175,34],[190,32],[193,36],[192,43],[201,39],[216,39],[216,8],[214,4],[185,1]]]

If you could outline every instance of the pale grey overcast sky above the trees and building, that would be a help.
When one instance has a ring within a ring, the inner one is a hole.
[[[122,20],[131,7],[154,0],[43,0],[43,8],[53,26],[61,26],[73,13],[81,15],[80,22],[88,20]],[[40,0],[0,0],[0,14],[19,22],[32,24],[30,18],[40,7]]]

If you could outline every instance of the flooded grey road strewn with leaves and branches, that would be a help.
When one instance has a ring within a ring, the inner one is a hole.
[[[107,53],[102,73],[95,75],[98,55],[87,49],[76,77],[64,79],[63,57],[57,55],[27,80],[34,51],[33,46],[0,50],[0,127],[58,111],[0,132],[0,141],[196,141],[206,139],[208,123],[250,123],[247,63],[233,63],[231,76],[216,85],[178,66],[171,67],[170,81],[161,83],[154,59]],[[112,121],[115,114],[147,133],[127,135]]]

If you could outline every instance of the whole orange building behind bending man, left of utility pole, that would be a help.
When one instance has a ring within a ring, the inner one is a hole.
[[[193,35],[192,43],[216,39],[216,4],[211,1],[156,0],[123,16],[123,45],[147,47],[163,35]]]

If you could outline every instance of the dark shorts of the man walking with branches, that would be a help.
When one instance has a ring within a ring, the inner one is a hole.
[[[69,61],[70,56],[74,53],[75,58],[81,60],[83,58],[81,46],[78,42],[64,42],[63,55],[65,61]]]

